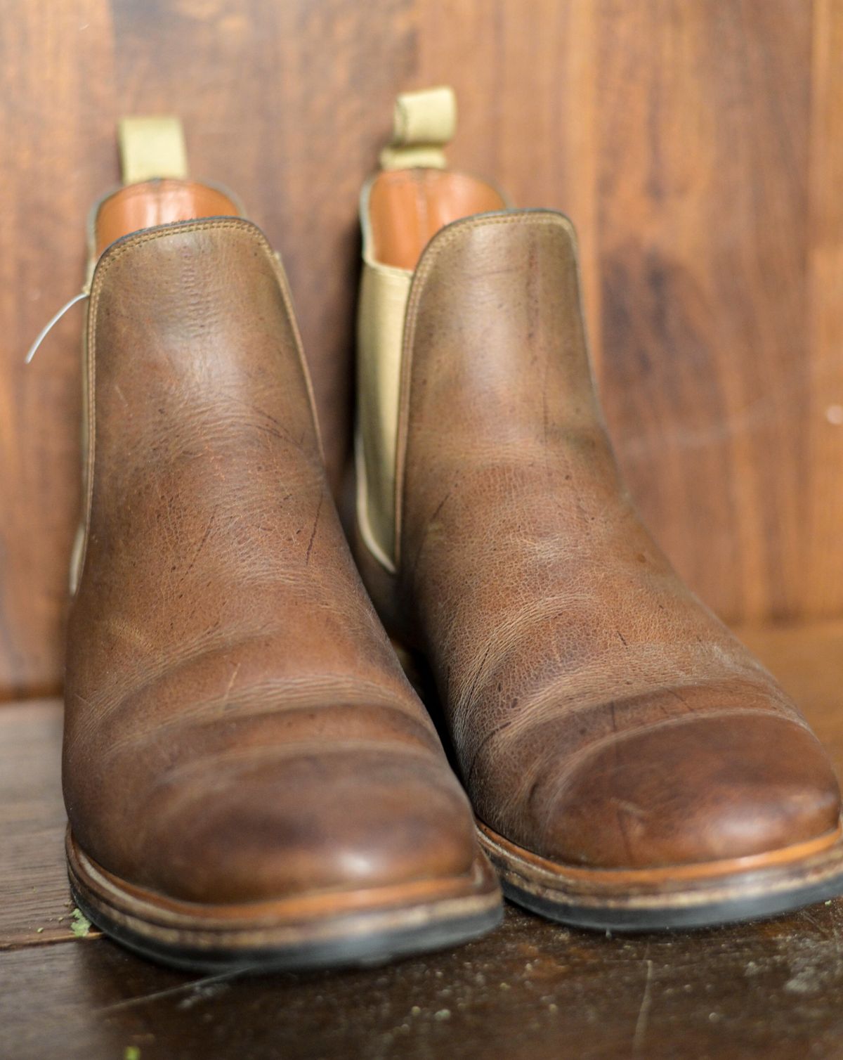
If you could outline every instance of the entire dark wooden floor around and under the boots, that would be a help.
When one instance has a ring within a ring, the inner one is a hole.
[[[843,622],[743,631],[843,766]],[[843,1056],[843,902],[612,938],[507,909],[451,952],[371,971],[202,978],[95,933],[65,880],[60,705],[0,708],[4,1060]]]

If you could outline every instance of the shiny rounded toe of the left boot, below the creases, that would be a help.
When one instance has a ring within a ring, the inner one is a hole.
[[[444,763],[358,752],[218,773],[162,803],[141,849],[133,879],[213,904],[458,877],[478,847]]]

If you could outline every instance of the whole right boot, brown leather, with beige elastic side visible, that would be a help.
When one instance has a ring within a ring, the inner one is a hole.
[[[612,930],[840,893],[826,755],[618,477],[571,224],[443,169],[452,127],[448,90],[401,98],[363,192],[356,547],[504,893]]]

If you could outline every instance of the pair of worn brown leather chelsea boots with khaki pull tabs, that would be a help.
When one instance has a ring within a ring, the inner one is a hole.
[[[570,223],[448,171],[453,124],[450,90],[400,96],[363,192],[357,566],[264,235],[174,122],[124,125],[93,211],[67,855],[168,964],[456,943],[498,876],[612,930],[843,889],[823,749],[618,478]]]

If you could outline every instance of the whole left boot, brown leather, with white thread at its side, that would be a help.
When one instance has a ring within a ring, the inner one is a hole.
[[[279,259],[149,129],[124,136],[153,158],[91,227],[74,898],[189,968],[471,938],[500,919],[497,879],[343,537]]]

